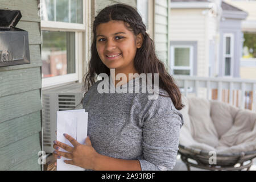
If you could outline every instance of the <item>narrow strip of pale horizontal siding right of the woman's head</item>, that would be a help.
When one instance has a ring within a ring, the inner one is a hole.
[[[155,14],[154,14],[154,42],[155,51],[158,58],[163,61],[168,68],[170,60],[170,40],[169,32],[169,18],[170,15],[170,2],[168,0],[155,1]],[[169,69],[169,68],[168,68]]]

